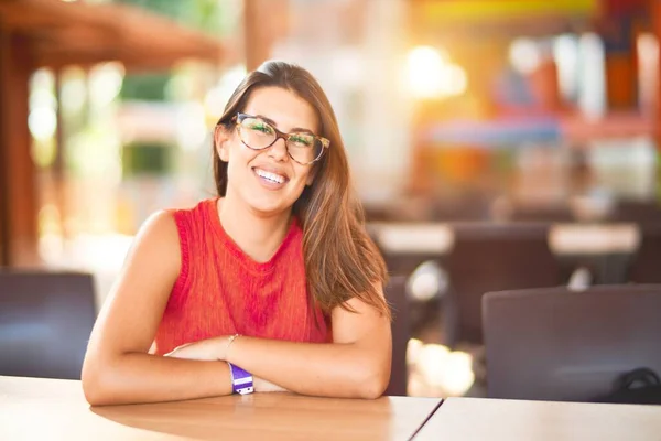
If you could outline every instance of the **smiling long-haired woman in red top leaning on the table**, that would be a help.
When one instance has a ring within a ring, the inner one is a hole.
[[[91,334],[87,400],[379,397],[387,272],[318,83],[264,63],[227,104],[213,154],[219,197],[158,213],[138,234]]]

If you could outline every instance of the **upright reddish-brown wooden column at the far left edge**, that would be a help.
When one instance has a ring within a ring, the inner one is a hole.
[[[30,41],[0,24],[0,265],[39,263],[35,168],[30,154]]]

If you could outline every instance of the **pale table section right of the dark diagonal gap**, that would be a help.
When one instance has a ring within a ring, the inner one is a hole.
[[[448,398],[419,440],[661,440],[661,406]]]

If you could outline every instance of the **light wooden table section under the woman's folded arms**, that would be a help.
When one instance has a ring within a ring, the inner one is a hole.
[[[0,440],[408,440],[440,404],[253,394],[90,408],[79,381],[0,377]]]

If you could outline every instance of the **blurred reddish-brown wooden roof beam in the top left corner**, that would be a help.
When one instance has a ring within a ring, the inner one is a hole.
[[[218,63],[226,52],[202,32],[126,4],[3,0],[0,22],[33,42],[40,67],[118,61],[128,71],[164,69],[187,58]]]

